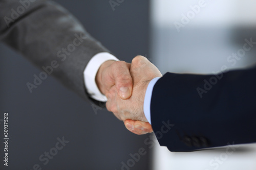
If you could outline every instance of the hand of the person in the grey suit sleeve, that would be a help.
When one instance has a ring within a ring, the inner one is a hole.
[[[102,94],[109,92],[114,85],[121,99],[129,99],[132,95],[133,80],[130,75],[130,63],[109,60],[104,62],[96,75],[96,83]]]

